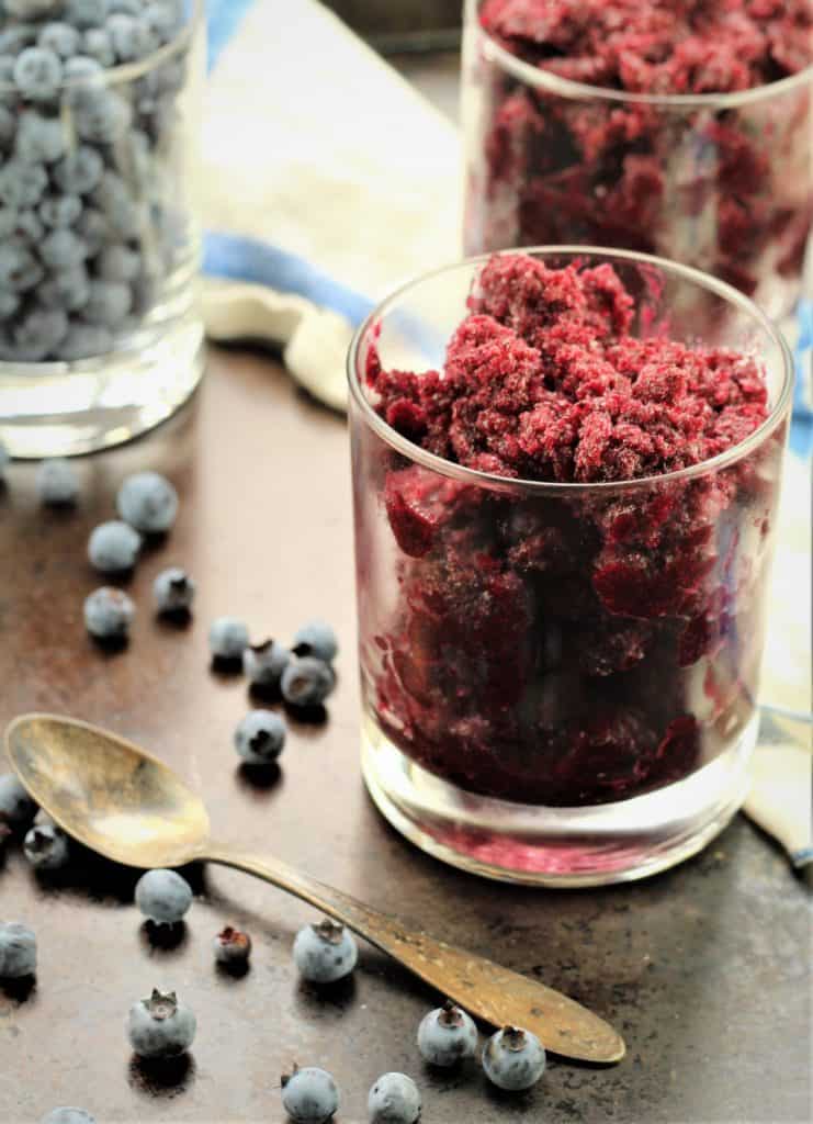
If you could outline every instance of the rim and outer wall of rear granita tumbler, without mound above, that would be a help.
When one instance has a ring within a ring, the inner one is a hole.
[[[478,9],[467,0],[465,253],[618,246],[792,310],[813,224],[813,65],[736,93],[602,89],[504,49]]]

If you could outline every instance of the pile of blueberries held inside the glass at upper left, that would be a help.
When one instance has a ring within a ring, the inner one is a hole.
[[[0,360],[109,352],[183,260],[167,154],[184,0],[0,4]]]

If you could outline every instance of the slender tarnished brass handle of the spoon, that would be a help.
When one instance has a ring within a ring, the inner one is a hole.
[[[623,1039],[612,1026],[561,992],[420,930],[410,930],[396,917],[378,913],[278,859],[259,859],[219,844],[208,844],[201,858],[256,874],[310,903],[486,1023],[522,1026],[537,1034],[546,1049],[565,1058],[616,1062],[624,1055]]]

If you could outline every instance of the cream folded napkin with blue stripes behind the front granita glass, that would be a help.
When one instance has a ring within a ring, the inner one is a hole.
[[[291,7],[208,3],[203,310],[210,338],[283,347],[291,374],[341,410],[354,327],[400,281],[459,256],[460,145],[454,126],[317,0],[296,0],[295,16]],[[762,697],[804,715],[813,303],[787,330],[798,347],[796,455],[783,493]],[[746,810],[801,863],[813,860],[809,727],[783,714],[764,716]]]

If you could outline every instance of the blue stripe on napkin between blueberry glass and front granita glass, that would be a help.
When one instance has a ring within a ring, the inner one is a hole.
[[[209,230],[203,236],[203,272],[307,297],[340,312],[354,326],[374,308],[369,298],[338,284],[304,259],[240,235]]]

